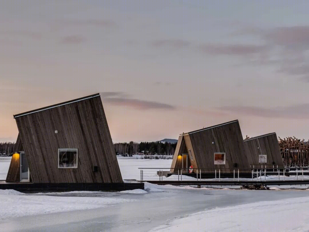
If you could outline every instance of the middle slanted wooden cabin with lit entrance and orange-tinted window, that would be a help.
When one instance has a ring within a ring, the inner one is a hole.
[[[239,122],[234,120],[180,134],[170,171],[186,172],[192,165],[193,172],[232,172],[249,168],[251,162],[245,153]]]

